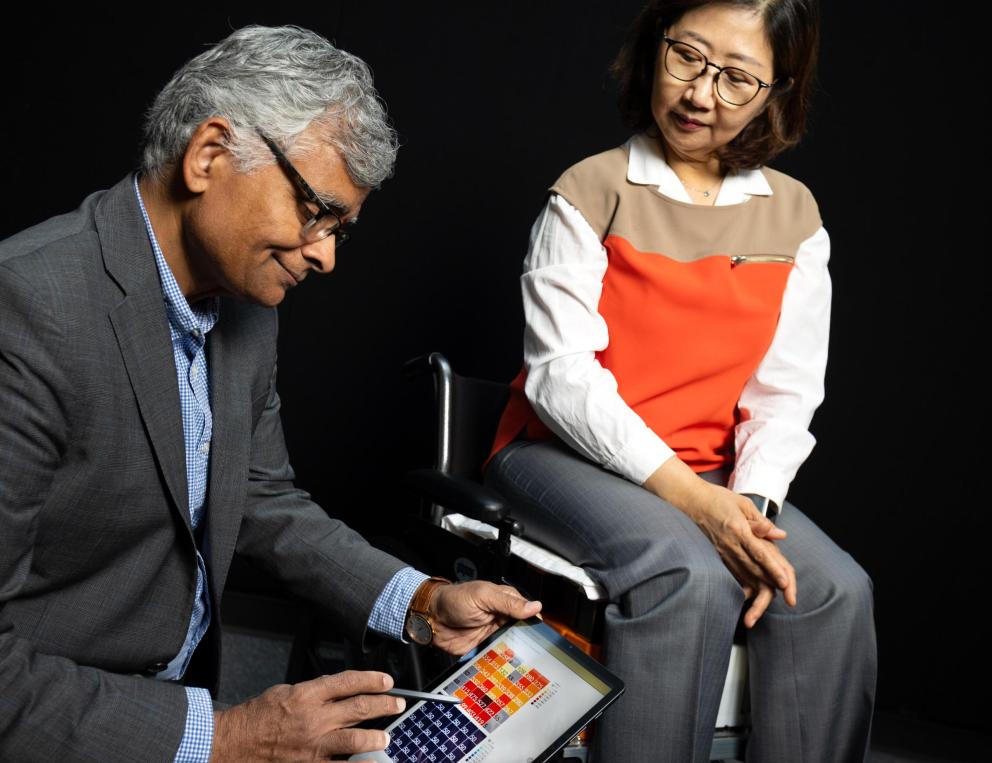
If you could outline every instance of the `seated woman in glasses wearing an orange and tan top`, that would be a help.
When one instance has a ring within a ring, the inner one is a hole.
[[[748,760],[867,755],[871,582],[785,500],[823,398],[829,239],[763,165],[803,131],[818,23],[815,0],[650,2],[615,64],[640,132],[566,171],[532,231],[487,479],[609,593],[627,693],[599,763],[708,759],[742,609]]]

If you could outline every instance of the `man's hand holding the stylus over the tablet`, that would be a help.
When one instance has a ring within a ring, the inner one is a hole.
[[[211,763],[329,760],[383,750],[389,744],[385,731],[351,727],[403,712],[404,700],[382,694],[391,688],[386,673],[357,670],[273,686],[214,712]]]

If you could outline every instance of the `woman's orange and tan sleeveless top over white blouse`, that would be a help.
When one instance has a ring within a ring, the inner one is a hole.
[[[600,236],[608,266],[599,313],[609,345],[596,359],[644,422],[697,472],[734,460],[737,403],[768,350],[799,245],[820,227],[812,194],[762,168],[771,196],[702,206],[626,180],[625,147],[565,172],[551,191]],[[511,385],[492,453],[550,430]],[[490,456],[491,457],[491,456]]]

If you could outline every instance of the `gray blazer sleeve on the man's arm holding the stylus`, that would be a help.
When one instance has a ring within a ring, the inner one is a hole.
[[[24,595],[66,448],[62,344],[51,306],[0,264],[0,760],[171,761],[186,722],[182,686],[42,654],[4,617]]]

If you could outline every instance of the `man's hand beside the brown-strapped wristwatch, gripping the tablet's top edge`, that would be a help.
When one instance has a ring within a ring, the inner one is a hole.
[[[476,580],[439,586],[428,614],[434,623],[434,645],[461,656],[507,620],[525,620],[540,611],[541,602],[527,601],[510,586]]]

